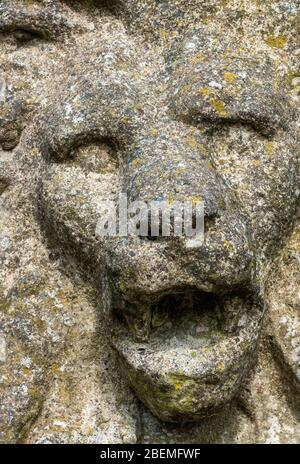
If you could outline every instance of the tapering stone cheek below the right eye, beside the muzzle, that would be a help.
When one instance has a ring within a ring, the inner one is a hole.
[[[251,219],[262,256],[280,243],[296,209],[296,148],[287,133],[266,139],[245,127],[215,133],[216,169]]]

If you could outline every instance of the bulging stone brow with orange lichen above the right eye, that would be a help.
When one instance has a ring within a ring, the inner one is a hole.
[[[171,111],[195,126],[240,124],[271,136],[294,119],[276,69],[268,56],[185,52],[172,70]]]

